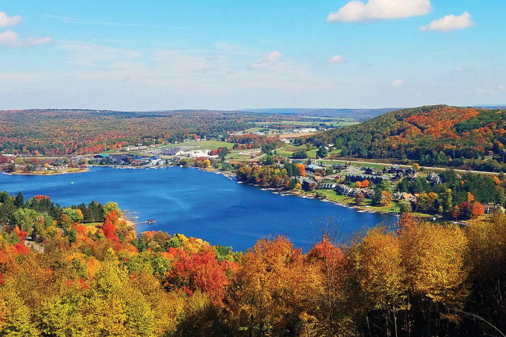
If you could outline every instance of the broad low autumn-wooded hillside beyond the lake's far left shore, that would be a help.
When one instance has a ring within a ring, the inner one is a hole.
[[[231,131],[254,127],[256,122],[280,119],[308,120],[298,116],[212,110],[0,111],[0,152],[64,156],[114,150],[136,143],[149,145],[151,139],[160,142],[182,141],[192,136],[225,139]]]

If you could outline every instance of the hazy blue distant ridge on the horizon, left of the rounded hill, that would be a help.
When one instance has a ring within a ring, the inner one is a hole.
[[[400,108],[381,108],[381,109],[303,109],[303,108],[269,108],[269,109],[242,109],[248,112],[261,112],[268,114],[284,115],[307,115],[338,118],[354,118],[359,121],[365,121],[373,117],[383,115],[384,113],[399,110]]]

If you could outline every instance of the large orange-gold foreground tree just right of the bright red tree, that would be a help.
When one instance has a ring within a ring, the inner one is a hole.
[[[311,306],[316,283],[286,237],[260,239],[241,258],[224,302],[237,331],[278,335]]]

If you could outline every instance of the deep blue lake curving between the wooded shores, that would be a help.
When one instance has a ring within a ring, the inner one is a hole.
[[[156,219],[154,224],[137,225],[138,232],[178,232],[239,251],[270,234],[285,234],[297,247],[308,250],[321,236],[318,218],[336,218],[343,236],[395,221],[386,214],[358,213],[328,202],[276,195],[191,167],[93,167],[86,173],[53,176],[0,174],[0,190],[21,191],[26,199],[47,195],[62,206],[115,201],[121,209],[140,212],[139,221]]]

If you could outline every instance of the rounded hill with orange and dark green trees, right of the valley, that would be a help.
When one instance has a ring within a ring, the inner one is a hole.
[[[397,158],[421,165],[503,169],[506,110],[427,106],[386,113],[359,125],[328,130],[343,156]],[[320,136],[310,140],[318,142]],[[489,156],[486,158],[486,156]],[[483,162],[483,159],[492,159]]]

